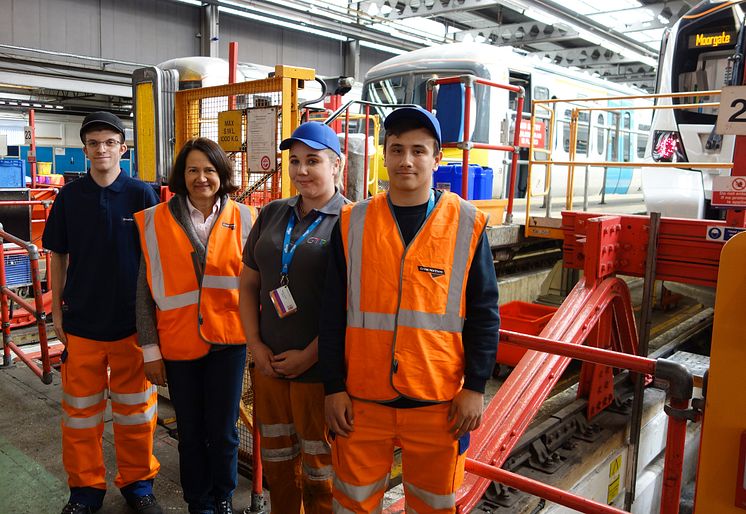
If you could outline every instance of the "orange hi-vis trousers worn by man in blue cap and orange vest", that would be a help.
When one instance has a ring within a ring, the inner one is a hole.
[[[381,512],[395,446],[402,450],[407,512],[456,512],[466,449],[448,430],[449,408],[396,409],[353,399],[354,430],[332,442],[334,512]]]

